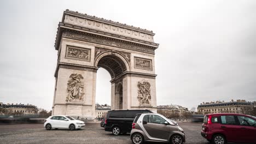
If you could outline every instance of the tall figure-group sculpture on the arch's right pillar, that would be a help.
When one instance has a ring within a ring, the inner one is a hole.
[[[141,82],[138,82],[137,87],[139,104],[150,104],[150,83],[148,81],[142,80]]]

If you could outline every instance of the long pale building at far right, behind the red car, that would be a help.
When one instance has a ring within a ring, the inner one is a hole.
[[[201,103],[197,107],[197,113],[205,115],[208,113],[243,113],[254,115],[256,101],[247,102],[246,100],[231,100],[230,102],[216,101],[210,103]]]

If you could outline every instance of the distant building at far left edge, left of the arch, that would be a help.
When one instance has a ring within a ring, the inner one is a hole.
[[[37,106],[24,104],[3,104],[0,103],[0,115],[15,115],[15,114],[36,114]]]

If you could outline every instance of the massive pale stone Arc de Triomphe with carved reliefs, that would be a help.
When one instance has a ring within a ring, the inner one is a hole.
[[[66,10],[57,30],[53,115],[95,118],[96,73],[112,80],[111,109],[156,111],[154,33]],[[109,97],[102,95],[102,97]]]

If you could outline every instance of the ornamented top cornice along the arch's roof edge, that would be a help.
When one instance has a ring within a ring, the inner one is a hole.
[[[111,23],[111,24],[113,24],[113,25],[118,25],[118,26],[121,26],[121,27],[126,27],[126,28],[130,28],[130,29],[135,29],[135,30],[137,30],[137,31],[147,32],[147,33],[150,33],[150,34],[154,35],[153,31],[149,31],[149,30],[147,30],[147,29],[143,29],[143,28],[139,28],[139,27],[134,27],[134,26],[126,25],[126,23],[120,23],[120,22],[114,22],[114,21],[112,21],[112,20],[106,20],[106,19],[103,19],[103,18],[100,18],[100,17],[91,16],[91,15],[88,15],[88,14],[78,13],[78,11],[72,11],[72,10],[66,9],[66,11],[64,11],[64,14],[65,14],[65,13],[66,13],[66,14],[73,14],[73,15],[83,16],[83,17],[86,17],[86,18],[89,18],[89,19],[98,20],[98,21],[103,21],[103,22]],[[63,22],[63,19],[65,19],[65,18],[62,17],[62,22]]]

